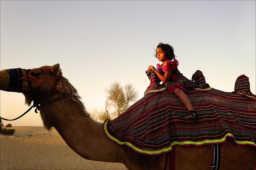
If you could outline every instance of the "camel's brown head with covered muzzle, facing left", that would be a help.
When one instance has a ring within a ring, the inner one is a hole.
[[[74,87],[62,77],[60,64],[28,70],[21,68],[2,70],[0,90],[22,92],[28,105],[34,99],[43,100],[55,92],[76,94]]]

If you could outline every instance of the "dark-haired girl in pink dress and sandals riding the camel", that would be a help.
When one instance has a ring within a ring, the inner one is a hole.
[[[194,88],[195,84],[180,73],[177,68],[179,62],[175,59],[175,56],[172,46],[159,43],[156,48],[156,58],[158,61],[162,61],[162,64],[157,64],[157,68],[148,66],[148,70],[153,70],[168,90],[174,92],[180,98],[188,109],[188,116],[185,117],[186,120],[196,120],[198,115],[194,111],[188,96],[184,93]]]

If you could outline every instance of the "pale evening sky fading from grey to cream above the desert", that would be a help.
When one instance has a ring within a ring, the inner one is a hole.
[[[0,4],[0,70],[60,64],[87,110],[104,108],[113,82],[132,84],[139,98],[160,42],[174,47],[180,72],[201,70],[215,89],[233,92],[249,77],[256,94],[256,1],[11,1]],[[29,107],[20,93],[0,92],[1,116]],[[4,125],[42,126],[32,109]]]

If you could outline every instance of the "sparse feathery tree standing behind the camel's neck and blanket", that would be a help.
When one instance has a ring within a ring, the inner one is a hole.
[[[126,84],[123,88],[118,82],[114,82],[110,85],[110,88],[106,89],[106,112],[108,119],[111,117],[119,116],[126,111],[133,102],[138,98],[138,90],[131,84]]]

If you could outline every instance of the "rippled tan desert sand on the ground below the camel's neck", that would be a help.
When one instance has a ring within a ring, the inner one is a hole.
[[[51,132],[44,127],[7,128],[15,129],[15,133],[0,135],[1,170],[126,170],[121,163],[82,158],[54,128]]]

